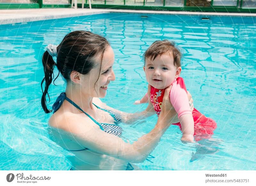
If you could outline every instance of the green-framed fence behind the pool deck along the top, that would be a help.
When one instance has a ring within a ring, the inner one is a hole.
[[[0,9],[24,8],[70,8],[67,4],[44,4],[44,0],[34,0],[29,4],[0,3]],[[91,0],[92,8],[136,9],[156,11],[210,11],[210,12],[256,12],[256,0]],[[78,0],[82,7],[82,0]],[[85,0],[85,8],[89,0]]]

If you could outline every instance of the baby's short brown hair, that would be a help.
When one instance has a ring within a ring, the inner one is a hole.
[[[155,41],[150,47],[146,50],[143,54],[144,66],[146,62],[146,58],[149,60],[156,59],[157,56],[162,56],[163,54],[170,54],[173,57],[173,62],[176,67],[180,67],[180,59],[181,59],[181,52],[175,46],[174,41]]]

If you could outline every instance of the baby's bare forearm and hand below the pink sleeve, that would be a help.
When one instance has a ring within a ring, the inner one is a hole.
[[[182,128],[182,138],[180,139],[182,142],[194,142],[194,119],[192,114],[184,114],[181,115],[180,124]]]

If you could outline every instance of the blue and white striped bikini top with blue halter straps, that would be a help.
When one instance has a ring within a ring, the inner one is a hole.
[[[86,112],[84,112],[82,110],[82,108],[80,108],[78,105],[76,105],[76,103],[74,103],[72,100],[70,100],[69,98],[66,97],[66,93],[65,92],[62,92],[59,97],[57,98],[57,100],[55,101],[55,103],[52,105],[52,110],[53,110],[53,113],[55,113],[59,108],[60,106],[62,105],[63,101],[64,100],[67,100],[69,103],[71,103],[72,105],[74,105],[76,108],[78,108],[79,110],[81,110],[85,115],[87,115],[94,123],[96,123],[97,125],[99,125],[100,129],[103,130],[104,132],[107,132],[109,134],[114,134],[118,137],[120,137],[122,135],[122,127],[120,127],[118,124],[122,122],[122,119],[121,119],[121,116],[112,111],[112,110],[108,110],[108,109],[105,109],[105,108],[100,108],[98,107],[97,105],[95,105],[94,103],[92,103],[93,105],[95,105],[97,108],[101,109],[101,110],[104,110],[106,112],[108,112],[112,117],[113,119],[115,120],[114,121],[114,124],[108,124],[108,123],[99,123],[97,122],[95,119],[92,118],[92,116],[90,116],[89,114],[87,114]]]

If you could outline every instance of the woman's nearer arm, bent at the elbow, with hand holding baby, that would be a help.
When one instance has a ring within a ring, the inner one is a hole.
[[[170,88],[166,92],[169,94]],[[164,99],[167,100],[166,98]],[[167,100],[166,104],[163,105],[163,110],[158,117],[156,126],[133,144],[125,143],[122,138],[100,130],[95,123],[94,125],[86,122],[74,123],[74,118],[71,117],[66,118],[66,126],[68,127],[65,130],[72,134],[73,140],[79,145],[89,148],[94,152],[113,156],[127,162],[139,163],[146,160],[172,123],[172,118],[176,115],[176,112],[170,108],[172,108],[170,100]]]

